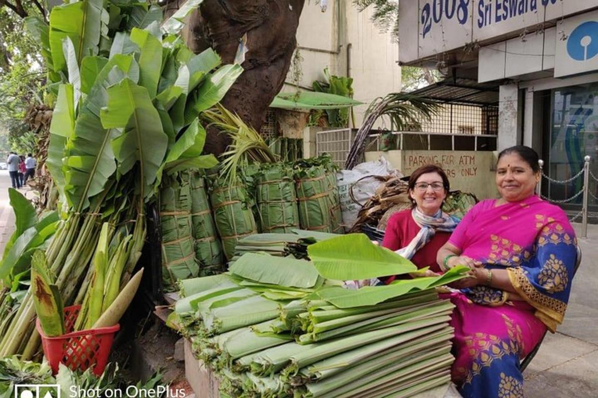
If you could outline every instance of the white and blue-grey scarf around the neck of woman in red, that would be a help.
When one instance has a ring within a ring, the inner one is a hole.
[[[419,230],[417,235],[407,246],[395,250],[396,254],[402,255],[402,257],[405,257],[408,260],[411,260],[416,252],[436,235],[437,231],[453,232],[459,223],[458,218],[443,213],[442,209],[438,210],[434,217],[430,217],[429,215],[420,212],[416,207],[411,211],[411,217],[413,217],[413,220],[415,220],[416,224],[422,227],[422,229]]]

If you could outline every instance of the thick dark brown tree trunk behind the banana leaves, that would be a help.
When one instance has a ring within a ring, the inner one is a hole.
[[[223,63],[233,63],[247,34],[245,72],[222,104],[258,131],[271,101],[282,88],[297,41],[305,0],[206,0],[191,15],[188,43],[195,51],[210,45]],[[211,133],[211,134],[210,134]],[[206,151],[219,155],[230,144],[225,134],[209,131]]]

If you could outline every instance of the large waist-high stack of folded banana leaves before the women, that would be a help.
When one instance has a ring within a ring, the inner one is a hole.
[[[434,288],[465,267],[350,290],[340,281],[417,268],[361,234],[308,251],[312,261],[246,253],[226,274],[181,283],[172,324],[222,397],[409,397],[450,381],[453,305]]]

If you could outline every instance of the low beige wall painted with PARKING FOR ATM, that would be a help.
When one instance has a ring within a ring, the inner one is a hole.
[[[440,165],[449,176],[451,190],[471,192],[478,199],[498,198],[495,184],[495,152],[451,150],[391,150],[365,152],[365,161],[384,156],[404,175],[427,164]]]

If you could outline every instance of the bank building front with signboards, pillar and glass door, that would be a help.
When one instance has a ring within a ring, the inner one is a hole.
[[[557,180],[589,155],[598,175],[598,0],[399,0],[399,29],[402,64],[496,85],[498,150],[533,147]],[[543,192],[566,199],[582,184]]]

